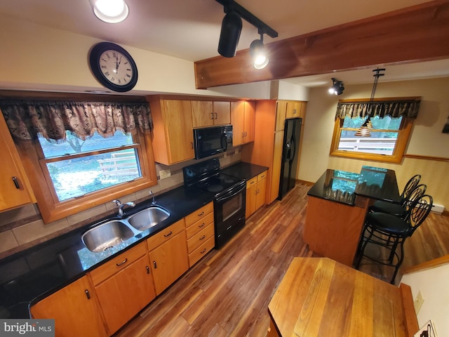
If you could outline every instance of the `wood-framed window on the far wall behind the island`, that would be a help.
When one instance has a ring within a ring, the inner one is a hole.
[[[330,155],[401,162],[410,137],[413,118],[407,117],[407,114],[391,116],[390,114],[377,113],[370,118],[373,124],[371,136],[359,137],[355,136],[355,133],[366,121],[366,106],[361,107],[360,103],[356,104],[359,105],[351,107],[353,110],[351,114],[342,114],[336,118]],[[357,109],[360,111],[364,109],[365,114],[354,112]],[[359,113],[360,115],[358,115]],[[338,111],[337,114],[339,114]]]

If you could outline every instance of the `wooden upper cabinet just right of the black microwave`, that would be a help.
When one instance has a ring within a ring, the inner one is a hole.
[[[239,101],[231,103],[232,145],[242,145],[254,141],[255,102]]]

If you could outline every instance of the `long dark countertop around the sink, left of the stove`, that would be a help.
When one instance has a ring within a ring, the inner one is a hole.
[[[151,201],[148,199],[132,209],[125,208],[123,218],[146,209]],[[30,303],[74,282],[210,201],[213,201],[213,194],[177,187],[156,196],[156,204],[170,211],[166,220],[107,251],[93,253],[81,242],[81,235],[101,222],[98,221],[0,260],[0,318],[29,318]]]

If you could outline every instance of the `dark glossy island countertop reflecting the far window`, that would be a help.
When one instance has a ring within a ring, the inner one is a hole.
[[[396,173],[373,166],[362,166],[360,173],[328,169],[307,194],[350,206],[355,205],[357,195],[385,201],[401,201]]]

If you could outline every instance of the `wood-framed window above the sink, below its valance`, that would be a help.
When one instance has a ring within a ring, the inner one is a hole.
[[[18,147],[45,223],[157,184],[149,134],[67,139]]]

